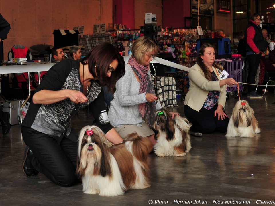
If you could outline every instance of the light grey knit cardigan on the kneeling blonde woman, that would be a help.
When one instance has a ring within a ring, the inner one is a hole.
[[[125,64],[125,70],[125,75],[115,85],[114,99],[111,101],[108,112],[113,127],[120,127],[125,124],[140,126],[144,122],[138,105],[147,102],[146,93],[139,94],[140,83],[129,64]],[[150,75],[150,70],[147,75]],[[156,104],[156,109],[160,108],[160,104]]]

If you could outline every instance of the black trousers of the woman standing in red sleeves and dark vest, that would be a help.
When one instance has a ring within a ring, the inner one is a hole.
[[[248,84],[255,84],[255,76],[257,74],[258,66],[261,60],[261,53],[260,54],[250,54],[246,56],[248,61],[248,77],[247,83]],[[256,90],[256,86],[248,85],[248,92],[254,92]]]

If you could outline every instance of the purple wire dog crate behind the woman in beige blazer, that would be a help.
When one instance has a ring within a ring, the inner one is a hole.
[[[228,72],[229,76],[227,78],[233,78],[236,82],[243,81],[243,60],[227,60],[227,61],[217,61],[217,64],[221,64],[225,71]],[[240,91],[243,90],[243,84],[239,84]],[[238,86],[228,86],[227,91],[238,91]]]

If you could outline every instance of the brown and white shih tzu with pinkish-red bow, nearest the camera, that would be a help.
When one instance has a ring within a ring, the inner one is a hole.
[[[84,193],[116,196],[150,187],[147,156],[151,149],[150,140],[137,133],[109,148],[100,128],[85,126],[79,134],[76,170]]]

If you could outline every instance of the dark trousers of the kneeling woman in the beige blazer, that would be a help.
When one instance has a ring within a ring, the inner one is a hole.
[[[218,105],[215,105],[212,109],[207,110],[201,108],[199,112],[193,110],[188,105],[184,105],[184,114],[187,119],[193,124],[190,128],[191,131],[201,133],[212,133],[212,132],[226,132],[229,119],[218,120],[218,115],[214,117],[214,112]]]

